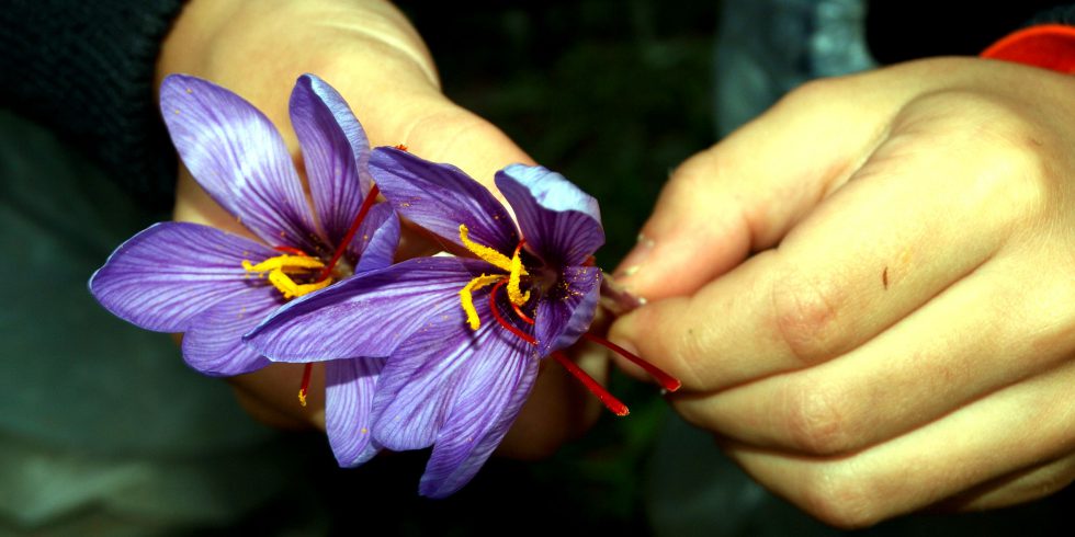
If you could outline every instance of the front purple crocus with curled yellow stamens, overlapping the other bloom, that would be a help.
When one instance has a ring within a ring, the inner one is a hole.
[[[516,218],[461,170],[377,148],[371,171],[400,215],[459,255],[418,258],[296,300],[248,341],[279,362],[384,358],[357,435],[394,450],[433,446],[420,492],[466,484],[503,438],[540,359],[554,356],[602,400],[626,408],[559,353],[589,328],[604,242],[597,202],[541,167],[496,184]]]

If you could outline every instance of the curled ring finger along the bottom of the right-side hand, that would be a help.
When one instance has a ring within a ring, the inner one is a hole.
[[[822,521],[862,527],[1068,454],[1075,363],[1014,385],[892,442],[842,457],[727,452],[761,484]]]

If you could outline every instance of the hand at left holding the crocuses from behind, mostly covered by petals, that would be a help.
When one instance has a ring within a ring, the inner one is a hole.
[[[276,125],[296,161],[287,100],[295,79],[312,72],[351,104],[374,146],[406,145],[426,159],[462,168],[490,188],[496,170],[532,162],[496,127],[444,98],[421,38],[386,1],[194,0],[165,43],[158,85],[172,72],[205,78],[250,101]],[[185,170],[174,217],[246,233]],[[422,251],[410,239],[406,252]],[[591,375],[603,376],[603,355],[580,359]],[[295,400],[302,373],[302,365],[274,364],[231,380],[240,402],[259,419],[324,427],[324,372],[315,368],[305,408]],[[591,424],[599,407],[584,391],[559,368],[544,372],[501,453],[544,456]]]

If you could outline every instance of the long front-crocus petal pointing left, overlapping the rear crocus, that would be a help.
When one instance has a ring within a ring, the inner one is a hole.
[[[245,339],[275,362],[385,357],[427,324],[430,310],[446,304],[462,312],[460,289],[487,267],[416,258],[357,274],[288,302]]]

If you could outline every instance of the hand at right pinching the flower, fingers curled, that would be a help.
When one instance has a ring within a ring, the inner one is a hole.
[[[806,84],[672,175],[612,338],[821,519],[1075,478],[1075,80],[972,58]],[[629,365],[624,365],[630,369]]]

